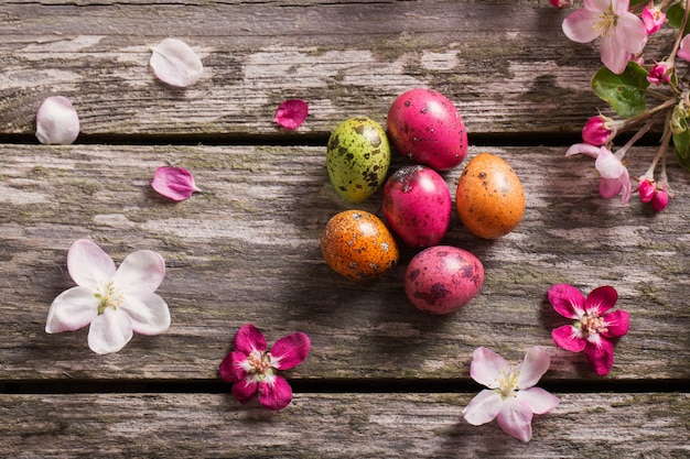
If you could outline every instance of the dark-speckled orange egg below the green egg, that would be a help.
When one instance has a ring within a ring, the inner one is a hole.
[[[398,264],[398,245],[386,225],[365,210],[342,211],[321,234],[323,258],[334,271],[352,280],[377,277]]]

